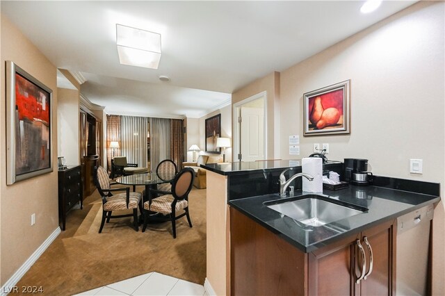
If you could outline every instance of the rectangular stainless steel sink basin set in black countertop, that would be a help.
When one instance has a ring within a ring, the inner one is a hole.
[[[330,199],[323,195],[302,195],[277,199],[264,202],[264,205],[312,227],[319,227],[368,211],[362,206]]]

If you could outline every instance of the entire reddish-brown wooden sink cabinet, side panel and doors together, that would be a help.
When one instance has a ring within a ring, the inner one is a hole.
[[[304,253],[230,208],[231,295],[395,295],[395,244],[385,222]]]

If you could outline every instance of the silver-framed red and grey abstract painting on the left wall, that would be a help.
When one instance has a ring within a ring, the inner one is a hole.
[[[6,61],[6,184],[53,172],[52,90]]]

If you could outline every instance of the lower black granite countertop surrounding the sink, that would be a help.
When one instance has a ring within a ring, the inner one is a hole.
[[[307,192],[296,191],[295,195],[308,194]],[[398,216],[440,200],[440,197],[435,195],[378,186],[350,185],[349,188],[337,191],[323,190],[323,195],[330,199],[338,199],[342,202],[368,208],[369,211],[320,227],[310,227],[264,206],[264,202],[289,198],[280,197],[278,194],[236,199],[229,201],[229,205],[273,231],[277,236],[295,245],[302,252],[312,252],[341,238],[382,222],[394,220]]]

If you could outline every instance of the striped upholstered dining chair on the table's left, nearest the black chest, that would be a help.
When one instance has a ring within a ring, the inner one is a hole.
[[[97,190],[102,197],[102,222],[100,224],[99,233],[102,233],[105,220],[110,222],[111,218],[131,217],[134,220],[134,229],[139,231],[138,226],[138,206],[142,212],[142,195],[140,192],[130,192],[129,187],[111,188],[116,183],[111,183],[104,167],[95,167],[95,183]],[[113,194],[112,192],[125,191]],[[111,215],[113,211],[122,211],[131,209],[133,213],[124,215]]]

